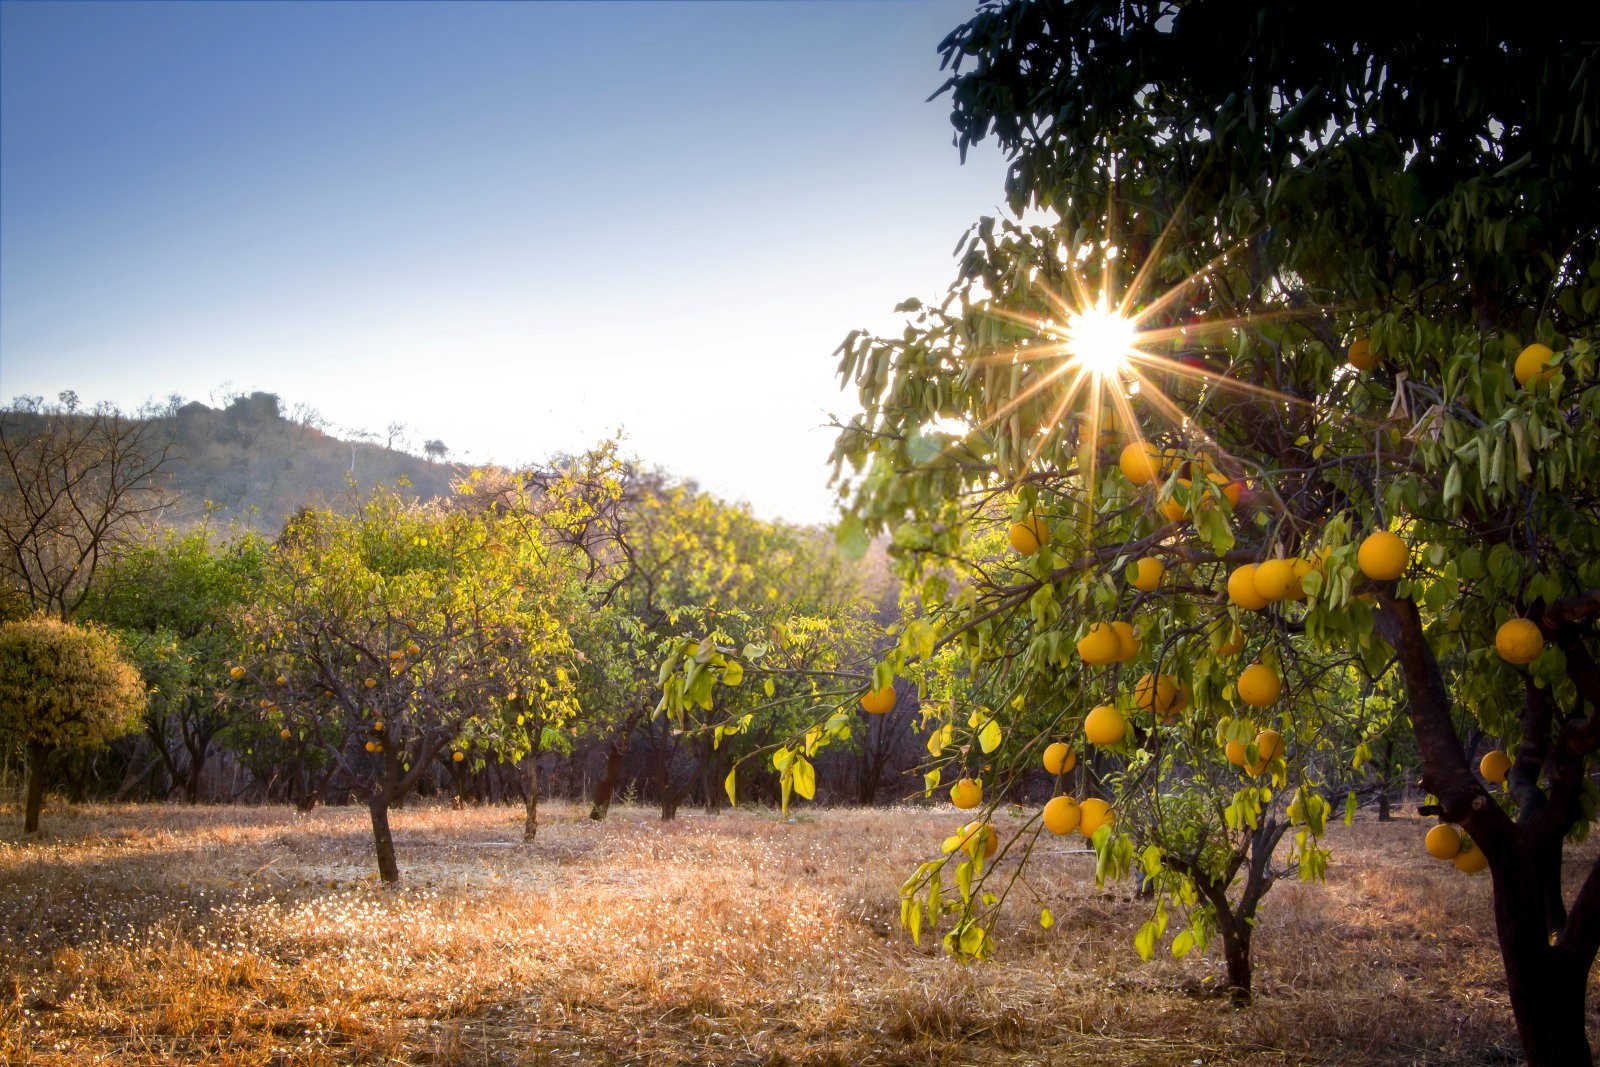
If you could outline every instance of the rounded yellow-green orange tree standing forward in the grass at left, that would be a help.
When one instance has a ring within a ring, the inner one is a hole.
[[[400,877],[389,808],[469,728],[496,737],[507,662],[565,646],[544,589],[493,522],[374,491],[354,515],[290,520],[243,613],[230,667],[258,715],[358,782],[378,870]],[[518,678],[520,680],[520,678]],[[514,720],[512,720],[514,721]]]

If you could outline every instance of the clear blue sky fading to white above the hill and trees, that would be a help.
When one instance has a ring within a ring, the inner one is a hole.
[[[0,6],[0,397],[267,390],[472,461],[622,429],[827,520],[830,352],[1002,202],[976,0]]]

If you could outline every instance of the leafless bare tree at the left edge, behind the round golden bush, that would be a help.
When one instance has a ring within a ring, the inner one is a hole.
[[[0,576],[70,619],[106,555],[170,502],[171,440],[110,405],[0,410]]]

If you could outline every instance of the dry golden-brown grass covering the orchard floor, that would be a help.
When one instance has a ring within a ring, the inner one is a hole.
[[[1016,893],[995,960],[965,966],[896,928],[949,813],[541,814],[523,846],[517,811],[397,811],[384,889],[358,808],[58,806],[30,843],[0,811],[0,1059],[1518,1059],[1488,880],[1422,857],[1416,821],[1338,827],[1326,886],[1272,891],[1234,1011],[1214,950],[1141,965],[1147,904],[1058,841],[1029,873],[1056,926]]]

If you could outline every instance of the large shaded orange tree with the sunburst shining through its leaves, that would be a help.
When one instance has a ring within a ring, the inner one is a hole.
[[[1046,522],[1045,547],[936,617],[1013,685],[1077,640],[1106,657],[1090,627],[1120,617],[1144,624],[1141,654],[1179,654],[1197,717],[1238,718],[1254,686],[1189,629],[1226,603],[1282,683],[1283,787],[1259,800],[1293,790],[1291,824],[1315,821],[1296,760],[1320,678],[1398,685],[1445,821],[1429,851],[1486,864],[1530,1061],[1579,1064],[1600,869],[1571,897],[1560,872],[1600,745],[1600,54],[1552,14],[984,3],[941,46],[957,142],[994,136],[1011,208],[1058,224],[986,221],[941,309],[845,344],[864,413],[838,454],[859,472],[851,537],[947,555],[997,488]],[[1142,557],[1173,584],[1130,603]],[[1003,733],[1010,702],[987,707]],[[1502,749],[1475,761],[1462,723]],[[1149,726],[1112,744],[1125,781],[1206,774],[1198,747],[1162,766],[1168,728]],[[1243,747],[1248,773],[1262,753]],[[1150,865],[1171,872],[1171,845]],[[1304,870],[1315,843],[1294,846]]]

